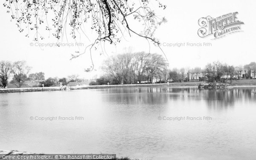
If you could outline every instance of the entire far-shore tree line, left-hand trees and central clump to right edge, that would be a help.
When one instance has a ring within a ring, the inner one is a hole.
[[[66,85],[78,78],[78,75],[71,75],[68,79],[49,77],[45,80],[43,72],[28,74],[31,69],[26,61],[0,61],[0,88],[6,88],[9,82],[21,87],[28,80],[37,81],[39,85],[44,84],[45,87],[60,82]],[[112,55],[103,62],[101,69],[105,74],[92,81],[90,85],[183,82],[189,81],[189,75],[195,76],[195,80],[199,81],[230,83],[234,79],[256,78],[256,62],[234,67],[216,61],[207,64],[204,69],[200,67],[169,69],[169,63],[163,55],[145,52]],[[242,71],[244,77],[241,77]],[[251,73],[254,73],[254,76],[251,76]],[[39,85],[33,87],[40,87]]]

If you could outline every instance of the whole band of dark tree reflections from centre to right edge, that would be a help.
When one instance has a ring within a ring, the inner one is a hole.
[[[198,90],[192,88],[172,87],[142,87],[142,88],[115,88],[108,89],[109,96],[105,101],[119,102],[120,104],[166,104],[169,101],[203,100],[208,107],[227,108],[236,102],[256,102],[256,94],[251,93],[253,88],[233,88],[224,90]],[[103,91],[103,90],[102,90]]]

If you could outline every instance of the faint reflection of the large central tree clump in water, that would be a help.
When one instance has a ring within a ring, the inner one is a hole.
[[[106,100],[121,104],[165,104],[170,100],[198,98],[197,88],[141,87],[108,90]]]

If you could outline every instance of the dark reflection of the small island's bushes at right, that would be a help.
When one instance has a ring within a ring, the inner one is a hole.
[[[208,107],[213,109],[234,106],[238,101],[256,101],[256,95],[250,88],[233,88],[224,90],[201,90]]]

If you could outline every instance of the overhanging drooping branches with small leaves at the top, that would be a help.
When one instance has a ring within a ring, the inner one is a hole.
[[[166,22],[166,18],[157,17],[150,8],[156,6],[151,1],[153,0],[6,0],[4,6],[12,14],[11,18],[20,32],[24,29],[34,31],[32,35],[35,35],[35,41],[44,39],[44,35],[39,33],[42,30],[53,31],[52,35],[59,40],[63,38],[62,35],[66,35],[67,29],[70,29],[72,38],[92,29],[97,36],[88,46],[91,50],[100,42],[116,44],[124,34],[137,35],[159,47],[159,40],[154,37],[154,32]],[[166,8],[158,0],[155,3],[162,9]],[[72,55],[72,58],[82,54],[84,52]]]

